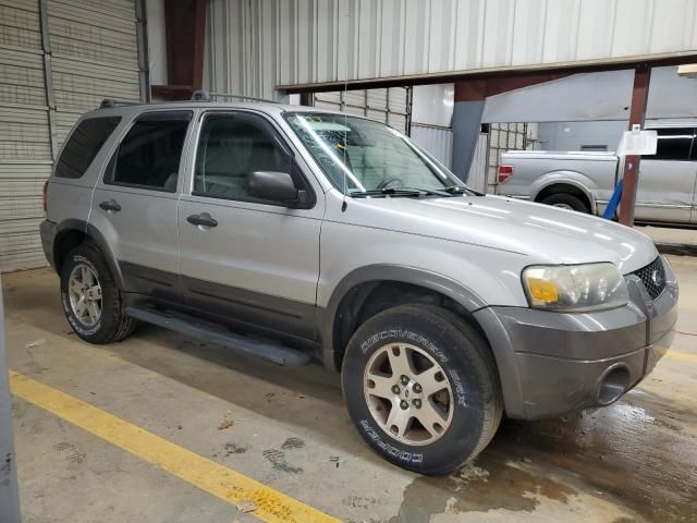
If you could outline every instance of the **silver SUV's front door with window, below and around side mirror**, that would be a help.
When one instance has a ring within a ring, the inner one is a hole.
[[[253,198],[247,175],[281,171],[317,195],[293,209]],[[316,338],[323,198],[265,117],[208,112],[180,202],[182,288],[188,306],[242,327]]]

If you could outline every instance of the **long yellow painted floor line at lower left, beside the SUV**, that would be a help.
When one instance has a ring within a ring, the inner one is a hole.
[[[12,393],[213,496],[236,504],[250,500],[250,514],[269,523],[338,523],[319,510],[140,427],[10,370]]]

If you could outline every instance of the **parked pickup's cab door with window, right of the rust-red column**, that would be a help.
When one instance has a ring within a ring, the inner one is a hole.
[[[690,160],[693,127],[657,129],[656,155],[643,156],[636,195],[637,220],[689,222],[697,162]]]

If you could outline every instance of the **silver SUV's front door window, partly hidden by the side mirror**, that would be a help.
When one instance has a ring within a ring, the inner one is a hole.
[[[255,117],[208,114],[201,126],[194,171],[194,194],[256,199],[247,177],[255,171],[291,172],[292,159]]]

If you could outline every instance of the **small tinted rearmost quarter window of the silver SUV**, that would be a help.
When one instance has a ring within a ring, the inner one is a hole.
[[[80,122],[58,159],[56,175],[81,178],[120,121],[121,117],[105,117],[89,118]]]

